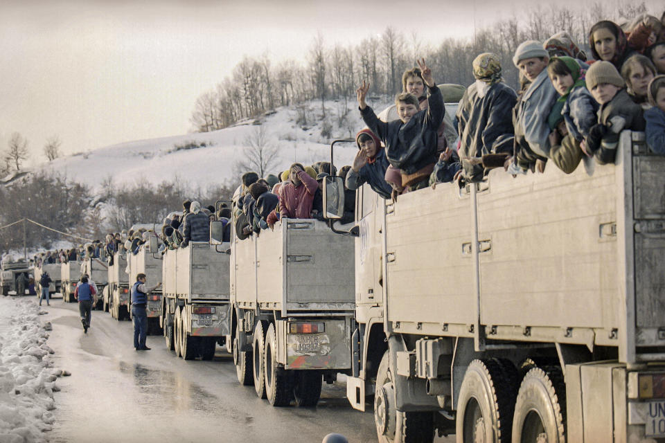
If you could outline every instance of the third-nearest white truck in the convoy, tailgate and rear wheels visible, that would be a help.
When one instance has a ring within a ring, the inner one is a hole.
[[[185,360],[211,360],[230,332],[229,255],[208,242],[167,249],[159,324],[169,350]]]

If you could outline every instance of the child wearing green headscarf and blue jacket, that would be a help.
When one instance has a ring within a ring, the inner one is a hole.
[[[550,114],[550,128],[556,129],[563,121],[560,129],[550,134],[549,156],[560,170],[570,174],[582,160],[580,143],[596,124],[598,103],[586,88],[582,66],[574,58],[552,57],[547,73],[560,95]]]

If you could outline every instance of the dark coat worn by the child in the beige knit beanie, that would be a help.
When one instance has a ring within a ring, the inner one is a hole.
[[[594,156],[601,165],[614,163],[617,157],[619,135],[624,129],[631,131],[644,131],[644,109],[630,100],[626,89],[621,89],[617,95],[598,110],[598,123],[611,125],[603,137],[600,148]]]

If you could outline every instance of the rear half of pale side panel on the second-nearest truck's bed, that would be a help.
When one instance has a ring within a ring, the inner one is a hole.
[[[258,238],[252,236],[256,242],[256,301],[259,303],[284,301],[285,236],[285,226],[279,221],[274,230],[263,230]]]

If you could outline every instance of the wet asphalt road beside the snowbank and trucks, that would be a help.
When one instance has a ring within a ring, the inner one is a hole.
[[[44,308],[55,365],[71,372],[57,383],[51,442],[318,443],[330,432],[376,441],[371,408],[351,408],[344,383],[324,384],[316,408],[273,408],[240,386],[219,346],[213,361],[184,361],[162,336],[148,336],[152,350],[136,352],[129,321],[93,311],[83,334],[75,303],[55,299]]]

